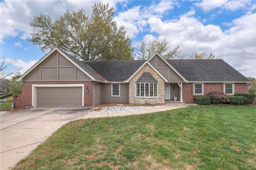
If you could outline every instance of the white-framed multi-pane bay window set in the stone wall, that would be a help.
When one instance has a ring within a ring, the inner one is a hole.
[[[157,97],[157,83],[136,83],[136,97]]]

